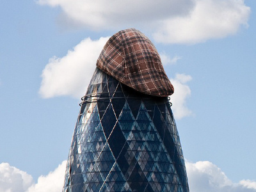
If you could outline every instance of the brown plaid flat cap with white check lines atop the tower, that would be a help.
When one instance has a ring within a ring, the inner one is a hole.
[[[125,29],[111,36],[96,65],[141,93],[167,97],[174,92],[156,47],[136,29]]]

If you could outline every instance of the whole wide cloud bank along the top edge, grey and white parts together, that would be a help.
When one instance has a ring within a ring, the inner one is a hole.
[[[62,22],[92,30],[143,28],[157,42],[195,44],[223,38],[247,26],[244,0],[38,0],[60,6]],[[65,21],[64,21],[65,22]]]

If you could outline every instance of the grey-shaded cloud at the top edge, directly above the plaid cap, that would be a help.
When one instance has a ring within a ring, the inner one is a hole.
[[[60,6],[71,22],[89,29],[147,26],[166,17],[186,15],[193,7],[193,0],[38,0],[38,3]]]

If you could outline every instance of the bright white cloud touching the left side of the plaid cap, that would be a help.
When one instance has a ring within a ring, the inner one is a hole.
[[[100,51],[109,37],[86,38],[63,58],[51,58],[42,72],[39,93],[44,98],[60,95],[83,97],[96,68]]]

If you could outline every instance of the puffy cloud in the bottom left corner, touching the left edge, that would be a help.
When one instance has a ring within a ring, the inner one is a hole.
[[[24,192],[33,184],[33,178],[26,172],[10,166],[0,164],[0,192]]]

